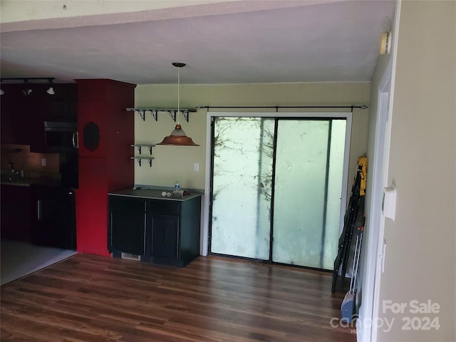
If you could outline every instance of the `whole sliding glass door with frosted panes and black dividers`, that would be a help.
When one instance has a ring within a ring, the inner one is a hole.
[[[209,253],[332,269],[346,120],[213,120]]]

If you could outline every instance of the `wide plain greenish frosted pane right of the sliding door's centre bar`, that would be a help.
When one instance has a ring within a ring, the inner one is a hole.
[[[322,266],[329,130],[328,120],[279,120],[273,261]]]

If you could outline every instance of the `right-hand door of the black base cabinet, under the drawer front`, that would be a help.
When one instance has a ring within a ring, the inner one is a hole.
[[[179,217],[152,216],[152,254],[154,257],[179,258]]]

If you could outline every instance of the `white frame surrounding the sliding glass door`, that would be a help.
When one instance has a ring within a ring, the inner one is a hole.
[[[207,256],[209,249],[209,214],[210,214],[210,196],[211,196],[211,179],[212,179],[212,118],[227,116],[237,118],[343,118],[346,119],[346,139],[345,152],[343,156],[343,175],[342,175],[342,192],[341,192],[341,217],[339,220],[339,234],[343,229],[343,214],[347,203],[348,194],[348,167],[350,160],[350,143],[352,129],[352,112],[209,112],[206,114],[206,170],[204,176],[204,217],[203,231],[201,239],[201,255]],[[343,209],[342,209],[343,208]]]

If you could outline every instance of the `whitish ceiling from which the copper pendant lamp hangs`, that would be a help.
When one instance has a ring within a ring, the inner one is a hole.
[[[128,4],[128,1],[125,1]],[[371,81],[395,1],[234,1],[1,25],[2,78]]]

